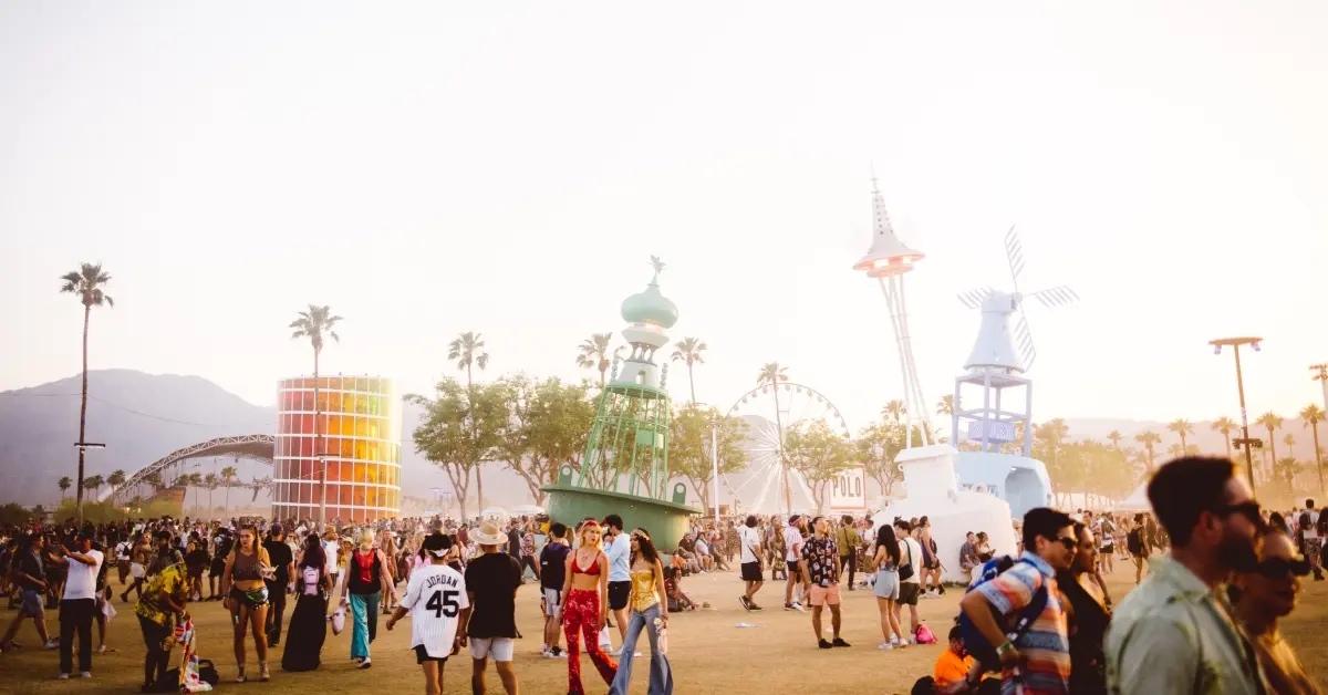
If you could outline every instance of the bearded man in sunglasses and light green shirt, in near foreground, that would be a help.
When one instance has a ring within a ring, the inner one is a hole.
[[[1149,577],[1121,602],[1106,634],[1112,692],[1267,692],[1250,643],[1219,590],[1256,565],[1259,502],[1226,458],[1185,457],[1149,481],[1149,502],[1171,540]]]

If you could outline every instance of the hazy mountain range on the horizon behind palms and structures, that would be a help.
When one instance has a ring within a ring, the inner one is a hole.
[[[88,441],[106,444],[105,449],[88,450],[88,476],[108,476],[116,469],[133,473],[175,449],[212,437],[275,431],[274,408],[254,405],[199,376],[100,369],[89,372],[88,389]],[[56,481],[61,476],[74,477],[77,469],[73,443],[78,439],[78,376],[0,392],[0,480],[4,481],[0,502],[46,506],[58,502]],[[413,404],[402,408],[402,493],[430,500],[433,488],[450,485],[440,469],[414,450],[412,433],[421,412]],[[1178,443],[1165,423],[1123,419],[1066,419],[1065,423],[1070,440],[1105,441],[1109,432],[1118,431],[1126,447],[1137,447],[1134,435],[1153,431],[1162,436],[1157,448],[1161,460],[1166,458],[1170,445]],[[1193,425],[1190,445],[1203,452],[1224,452],[1222,435],[1212,431],[1210,423],[1195,421]],[[948,433],[948,427],[943,433]],[[1312,461],[1309,429],[1295,417],[1287,417],[1283,429],[1276,433],[1279,457],[1286,456],[1283,437],[1288,433],[1296,440],[1295,456]],[[1267,439],[1267,431],[1259,427],[1251,427],[1251,435]],[[1328,427],[1321,429],[1321,435],[1325,437],[1321,444],[1328,445]],[[242,481],[271,474],[266,465],[246,460],[238,464],[234,460],[195,460],[186,464],[185,470],[208,473],[224,465],[238,465]],[[510,470],[489,465],[483,474],[486,505],[514,506],[530,501],[525,484]],[[470,509],[474,510],[474,504]]]

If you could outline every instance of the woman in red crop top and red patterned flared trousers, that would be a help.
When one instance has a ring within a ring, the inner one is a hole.
[[[604,650],[599,647],[599,631],[608,622],[608,555],[599,549],[600,528],[595,520],[586,520],[578,530],[580,544],[567,554],[563,579],[563,633],[567,635],[567,692],[582,695],[580,638],[586,638],[586,652],[604,683],[612,683],[618,674]]]

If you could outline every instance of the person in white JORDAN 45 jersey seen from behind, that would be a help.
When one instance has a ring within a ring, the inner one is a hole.
[[[466,578],[448,566],[452,540],[441,533],[425,537],[422,549],[429,563],[416,567],[406,583],[406,595],[388,618],[388,630],[410,614],[410,646],[416,650],[416,663],[424,670],[425,692],[442,695],[442,667],[448,656],[466,645],[466,631],[459,630],[470,619],[470,599],[466,597]]]

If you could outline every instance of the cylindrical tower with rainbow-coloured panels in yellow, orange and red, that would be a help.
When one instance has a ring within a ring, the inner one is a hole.
[[[320,376],[317,403],[313,385],[312,376],[278,384],[272,514],[317,520],[325,462],[328,521],[400,517],[401,409],[396,385],[377,376]]]

